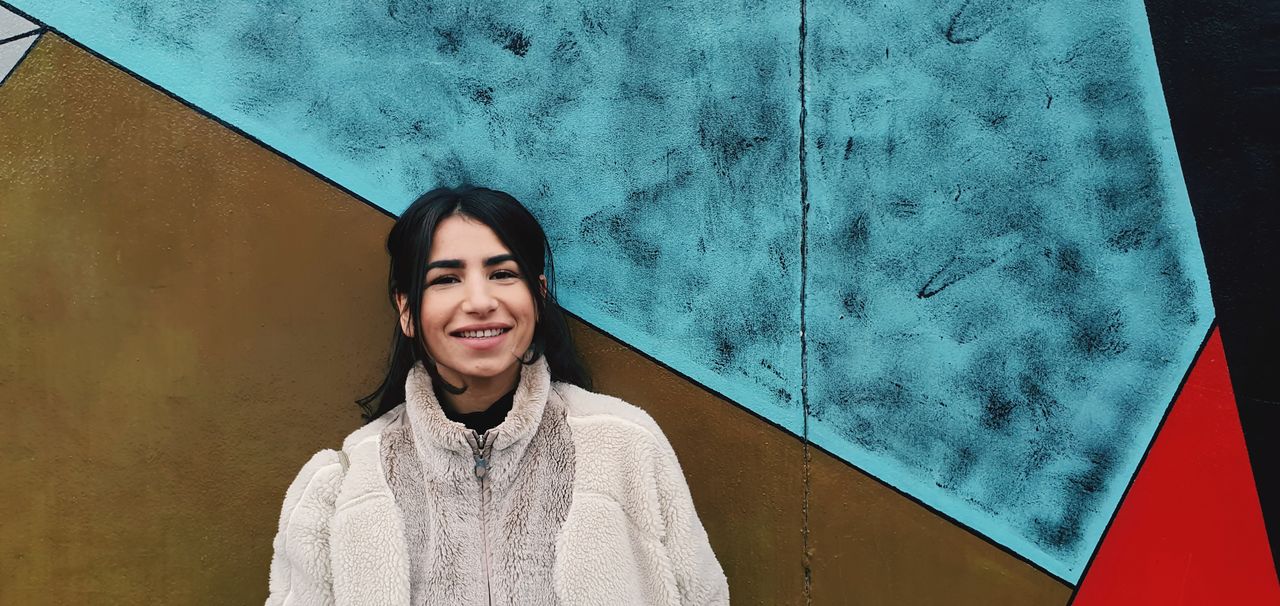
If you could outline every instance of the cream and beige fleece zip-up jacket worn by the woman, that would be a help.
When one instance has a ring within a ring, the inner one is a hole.
[[[640,409],[553,384],[540,360],[483,446],[413,369],[406,404],[289,486],[266,603],[728,603],[676,454]]]

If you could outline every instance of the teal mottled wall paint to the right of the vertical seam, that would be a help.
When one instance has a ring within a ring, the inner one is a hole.
[[[806,24],[810,438],[1075,582],[1213,318],[1143,5]]]

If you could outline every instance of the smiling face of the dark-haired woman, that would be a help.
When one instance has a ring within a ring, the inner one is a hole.
[[[403,297],[399,307],[401,328],[412,337]],[[435,228],[420,315],[426,351],[454,386],[515,383],[538,322],[511,250],[493,229],[463,215]]]

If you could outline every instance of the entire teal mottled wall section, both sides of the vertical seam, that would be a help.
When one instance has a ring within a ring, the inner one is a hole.
[[[799,3],[14,4],[803,432]],[[809,437],[1074,582],[1213,315],[1142,4],[806,5]]]

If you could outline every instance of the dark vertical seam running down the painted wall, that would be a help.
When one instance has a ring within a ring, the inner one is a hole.
[[[800,534],[804,552],[800,557],[804,570],[804,603],[813,605],[813,550],[809,546],[809,497],[810,463],[809,451],[809,347],[805,334],[805,297],[809,283],[809,172],[805,164],[805,0],[800,0],[800,407],[804,413],[801,442],[804,447],[804,496],[800,507]]]

